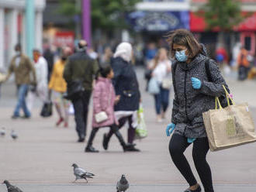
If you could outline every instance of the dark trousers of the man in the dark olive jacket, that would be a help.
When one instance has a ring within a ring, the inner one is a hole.
[[[84,91],[83,94],[81,94],[81,97],[72,100],[76,130],[80,139],[84,139],[86,135],[88,105],[91,94],[91,91]]]

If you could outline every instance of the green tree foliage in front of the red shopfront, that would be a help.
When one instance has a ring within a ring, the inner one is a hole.
[[[238,0],[209,0],[200,11],[206,19],[207,29],[219,27],[221,31],[229,31],[245,18]]]

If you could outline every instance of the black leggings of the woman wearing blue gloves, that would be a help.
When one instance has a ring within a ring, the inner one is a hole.
[[[169,144],[169,152],[171,159],[175,163],[175,166],[182,173],[185,180],[189,183],[189,186],[193,186],[197,183],[192,170],[189,166],[189,162],[184,156],[185,149],[191,143],[187,142],[187,138],[182,135],[174,134],[171,137]],[[198,138],[193,142],[192,156],[195,163],[195,169],[199,173],[200,180],[205,189],[205,192],[213,192],[213,180],[212,173],[209,168],[209,164],[206,161],[206,154],[209,151],[208,139]]]

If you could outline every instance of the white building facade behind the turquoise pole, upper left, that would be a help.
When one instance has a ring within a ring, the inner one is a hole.
[[[34,39],[35,48],[42,49],[43,9],[45,0],[36,0]],[[14,55],[16,43],[26,51],[26,0],[0,0],[0,69],[6,70]]]

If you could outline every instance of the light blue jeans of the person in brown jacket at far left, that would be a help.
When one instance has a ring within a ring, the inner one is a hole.
[[[19,109],[22,108],[24,115],[30,117],[30,112],[26,107],[26,93],[29,86],[27,84],[21,84],[18,86],[18,102],[14,111],[14,116],[19,116]]]

